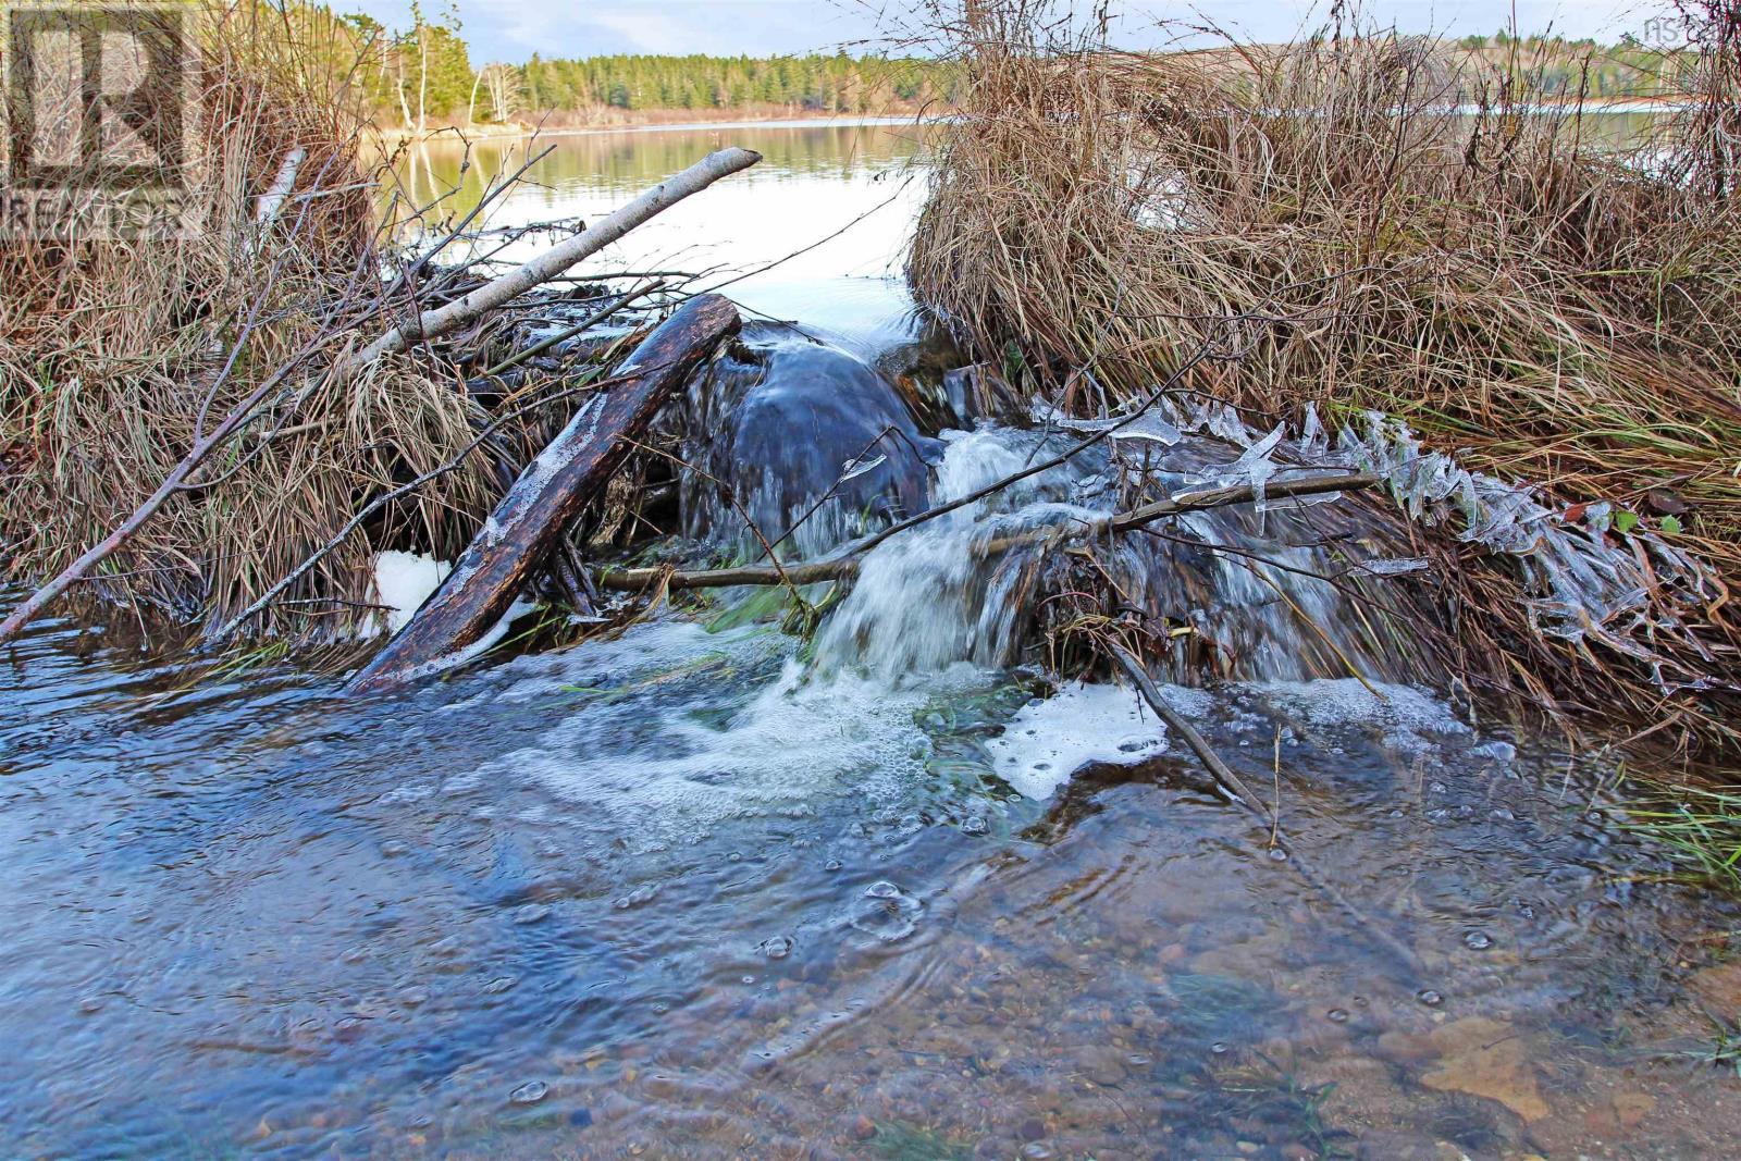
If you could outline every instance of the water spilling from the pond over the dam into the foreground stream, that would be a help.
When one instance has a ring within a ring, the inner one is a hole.
[[[534,202],[594,212],[705,136],[564,139]],[[783,160],[658,247],[778,258],[911,151],[745,136]],[[904,223],[743,284],[820,319],[750,327],[682,419],[794,557],[1069,442],[907,406]],[[1139,435],[1173,482],[1267,463]],[[1203,548],[1318,571],[1342,501],[1102,557],[1234,658],[1173,658],[1165,696],[1283,844],[1128,691],[1045,681],[1032,533],[1111,512],[1112,453],[890,540],[811,646],[723,594],[345,698],[38,623],[0,672],[0,1156],[1727,1156],[1738,909],[1659,882],[1612,769],[1410,684],[1335,587]],[[743,548],[705,480],[682,507]]]

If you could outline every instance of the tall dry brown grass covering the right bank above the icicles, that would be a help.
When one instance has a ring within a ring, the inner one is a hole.
[[[1186,388],[1269,421],[1375,407],[1645,527],[1684,501],[1675,540],[1741,578],[1734,54],[1628,155],[1576,104],[1536,104],[1529,75],[1431,40],[1147,57],[1053,9],[945,19],[968,87],[909,273],[980,359],[1092,413],[1212,343],[1226,357]],[[1516,632],[1518,578],[1443,555],[1483,684],[1680,742],[1729,731],[1626,658]],[[1652,648],[1734,682],[1741,642],[1710,604]]]

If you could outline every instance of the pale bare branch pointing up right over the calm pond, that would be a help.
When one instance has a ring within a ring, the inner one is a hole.
[[[665,209],[670,209],[691,193],[700,193],[721,178],[728,178],[740,169],[749,169],[759,160],[761,153],[756,153],[754,150],[740,150],[736,146],[709,153],[681,174],[667,178],[629,205],[601,218],[573,238],[568,238],[559,245],[552,245],[524,266],[486,282],[465,298],[454,299],[446,306],[425,310],[416,319],[390,329],[387,334],[345,360],[338,367],[338,374],[341,378],[357,374],[381,355],[402,352],[418,339],[432,339],[463,327],[479,315],[526,294],[550,279],[555,279],[580,259],[595,254],[611,242],[616,242],[641,223]]]

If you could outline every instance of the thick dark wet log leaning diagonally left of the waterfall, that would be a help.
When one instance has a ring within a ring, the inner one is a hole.
[[[507,614],[562,531],[629,456],[689,374],[736,334],[736,306],[717,294],[689,299],[660,324],[521,473],[453,573],[397,637],[350,682],[350,693],[383,689],[428,672],[475,646]]]

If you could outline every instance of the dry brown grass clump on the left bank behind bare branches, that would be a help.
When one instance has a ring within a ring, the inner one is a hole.
[[[49,576],[103,540],[275,374],[282,390],[200,486],[110,555],[84,594],[211,627],[366,498],[474,439],[477,407],[440,359],[385,360],[343,386],[327,378],[333,353],[381,329],[390,254],[345,89],[348,42],[301,17],[315,26],[237,5],[205,28],[195,237],[0,247],[0,543],[14,576]],[[298,197],[263,237],[256,198],[292,148],[306,150]],[[451,555],[496,493],[493,465],[472,458],[346,541],[256,628],[350,623],[376,548]]]

